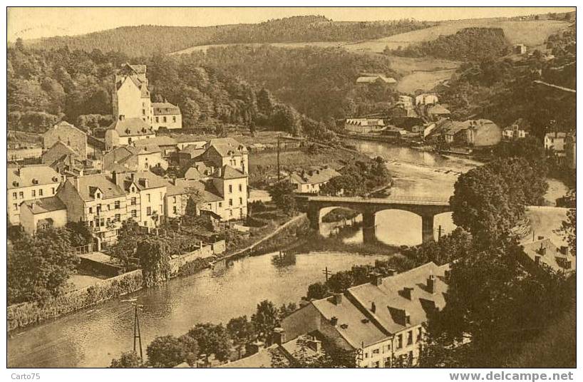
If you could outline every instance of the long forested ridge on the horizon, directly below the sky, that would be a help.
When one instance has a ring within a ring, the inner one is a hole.
[[[164,54],[216,43],[277,43],[360,41],[423,29],[435,23],[414,20],[336,22],[324,16],[294,16],[260,24],[223,26],[124,26],[79,36],[56,36],[24,41],[32,48],[118,51],[130,57]]]

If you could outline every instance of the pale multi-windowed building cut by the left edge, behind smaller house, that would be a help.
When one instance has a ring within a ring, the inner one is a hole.
[[[6,190],[6,210],[12,225],[20,224],[20,205],[29,200],[56,195],[63,176],[46,165],[9,167]]]

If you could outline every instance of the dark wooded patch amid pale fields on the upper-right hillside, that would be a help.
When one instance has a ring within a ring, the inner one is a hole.
[[[505,56],[510,43],[501,28],[465,28],[455,34],[439,36],[404,49],[391,51],[396,56],[433,56],[458,61],[483,61]]]

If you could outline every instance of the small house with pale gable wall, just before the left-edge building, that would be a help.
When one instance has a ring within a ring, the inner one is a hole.
[[[49,227],[65,227],[67,207],[56,196],[27,200],[20,206],[20,224],[29,235]]]

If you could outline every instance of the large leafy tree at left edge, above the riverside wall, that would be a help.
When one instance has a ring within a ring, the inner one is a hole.
[[[60,295],[79,259],[73,253],[68,229],[45,229],[24,235],[8,252],[8,301],[43,303]]]

